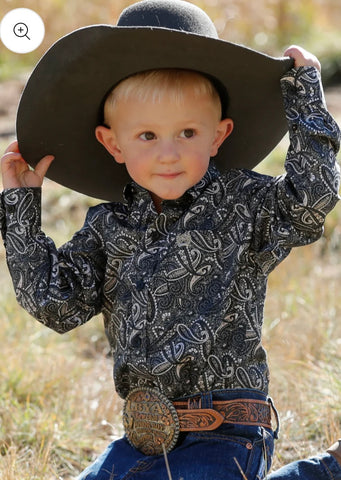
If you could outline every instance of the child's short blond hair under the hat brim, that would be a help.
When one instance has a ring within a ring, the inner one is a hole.
[[[107,123],[110,113],[121,100],[136,99],[155,104],[167,96],[167,99],[181,105],[186,88],[191,89],[195,98],[205,95],[211,97],[221,112],[220,96],[207,77],[191,70],[160,69],[137,73],[116,85],[106,97],[104,121]]]

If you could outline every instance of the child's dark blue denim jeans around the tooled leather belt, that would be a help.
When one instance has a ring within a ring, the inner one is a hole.
[[[213,398],[266,399],[255,390],[215,391]],[[202,408],[210,408],[211,401],[211,394],[204,394]],[[276,432],[263,427],[223,424],[211,432],[180,434],[166,459],[143,455],[123,437],[111,443],[77,480],[341,480],[341,466],[328,453],[270,474],[275,437]]]

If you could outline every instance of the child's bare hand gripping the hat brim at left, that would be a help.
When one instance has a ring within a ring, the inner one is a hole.
[[[4,189],[41,187],[53,159],[53,155],[46,155],[32,170],[19,152],[18,142],[11,143],[1,158],[1,174]]]

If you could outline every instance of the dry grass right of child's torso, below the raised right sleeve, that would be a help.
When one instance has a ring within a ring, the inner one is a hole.
[[[336,262],[336,253],[322,255],[317,245],[301,248],[270,277],[264,338],[282,419],[277,465],[324,449],[341,433]]]

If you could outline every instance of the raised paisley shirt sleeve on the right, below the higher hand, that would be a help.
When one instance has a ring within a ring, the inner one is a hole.
[[[326,109],[320,73],[314,67],[293,69],[281,85],[290,138],[286,174],[269,177],[262,201],[255,204],[253,248],[266,272],[292,247],[320,238],[325,217],[339,200],[340,130]]]

